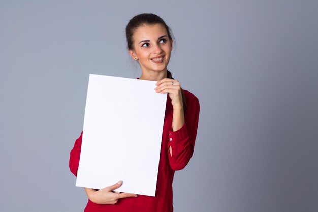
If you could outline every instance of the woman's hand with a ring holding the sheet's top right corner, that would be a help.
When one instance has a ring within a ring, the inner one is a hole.
[[[168,93],[171,99],[171,104],[174,108],[183,107],[181,85],[178,80],[164,78],[162,80],[159,80],[155,85],[157,85],[157,87],[155,88],[155,91],[157,93]]]

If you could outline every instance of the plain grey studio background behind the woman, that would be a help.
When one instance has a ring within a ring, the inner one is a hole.
[[[200,100],[175,211],[317,211],[317,1],[0,1],[1,211],[83,211],[69,172],[88,74],[136,78],[124,28],[160,15]],[[123,85],[124,86],[124,85]]]

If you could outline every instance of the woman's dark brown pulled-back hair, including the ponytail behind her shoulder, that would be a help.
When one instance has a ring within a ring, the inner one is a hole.
[[[152,13],[142,13],[139,15],[134,16],[126,26],[126,39],[127,39],[127,48],[129,50],[134,49],[134,33],[137,28],[140,26],[146,25],[154,25],[154,24],[161,24],[166,28],[168,38],[170,40],[175,41],[173,34],[171,33],[171,29],[167,26],[166,22],[159,16],[152,14]],[[170,71],[167,70],[167,78],[174,79]],[[186,101],[184,92],[181,88],[182,93],[182,101],[183,101],[183,111],[184,114],[186,113]]]

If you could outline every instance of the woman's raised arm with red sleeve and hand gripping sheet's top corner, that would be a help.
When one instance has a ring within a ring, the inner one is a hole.
[[[173,82],[173,83],[172,83]],[[157,82],[156,92],[168,93],[173,106],[172,131],[169,131],[169,163],[172,169],[183,169],[193,155],[198,129],[199,100],[189,94],[187,112],[184,116],[180,83],[177,80],[162,79]]]

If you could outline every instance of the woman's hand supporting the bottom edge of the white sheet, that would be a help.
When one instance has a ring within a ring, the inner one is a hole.
[[[118,199],[126,197],[137,197],[136,194],[113,192],[121,186],[122,181],[96,191],[95,189],[85,188],[86,194],[90,201],[96,204],[116,204]]]

